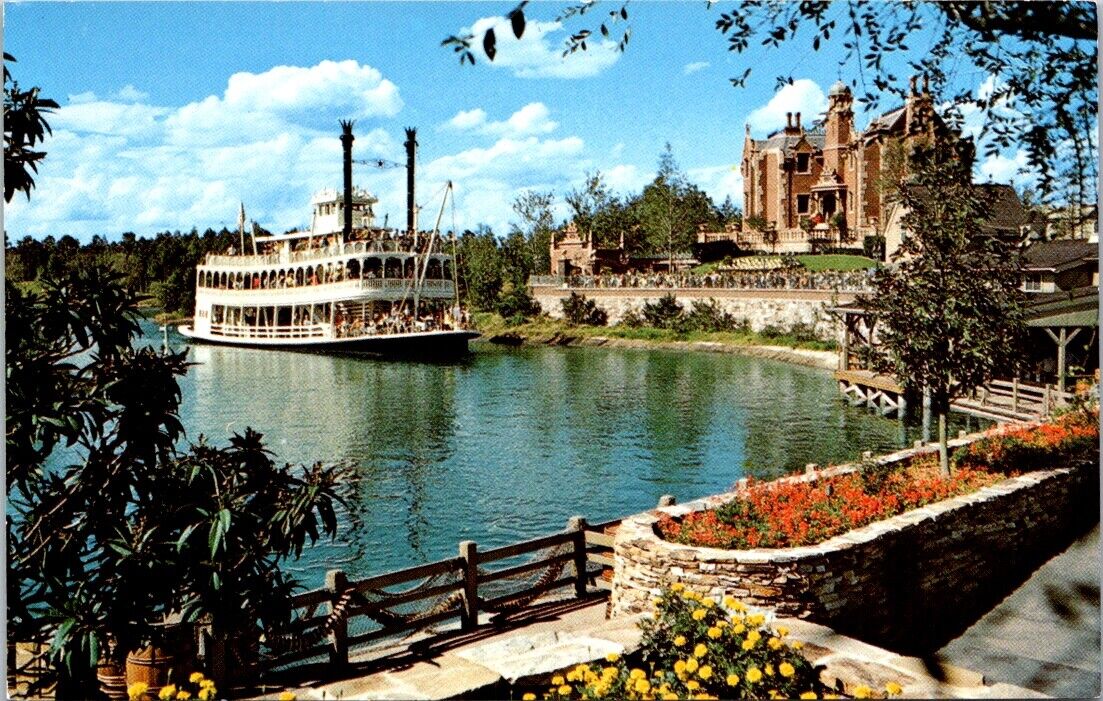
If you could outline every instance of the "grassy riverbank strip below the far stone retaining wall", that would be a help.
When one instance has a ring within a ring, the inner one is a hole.
[[[497,314],[475,314],[481,342],[502,345],[583,346],[732,353],[835,369],[838,354],[834,344],[792,336],[772,336],[754,332],[690,332],[679,334],[667,328],[627,326],[571,326],[557,319],[537,319],[507,326]]]

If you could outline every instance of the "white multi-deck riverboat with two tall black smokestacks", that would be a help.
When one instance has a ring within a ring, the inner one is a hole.
[[[312,198],[308,229],[250,236],[245,250],[210,254],[195,271],[195,342],[393,357],[456,356],[479,336],[459,302],[456,239],[417,229],[416,130],[407,129],[407,228],[376,227],[378,199],[352,186],[352,122],[342,122],[344,192]],[[451,194],[451,183],[445,201]]]

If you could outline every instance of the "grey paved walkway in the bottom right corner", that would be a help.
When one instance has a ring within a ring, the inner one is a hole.
[[[1099,697],[1099,526],[935,655],[988,681],[1059,698]]]

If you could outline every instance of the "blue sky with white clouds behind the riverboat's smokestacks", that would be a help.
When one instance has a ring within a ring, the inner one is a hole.
[[[15,79],[61,105],[31,199],[17,194],[4,207],[9,240],[233,228],[240,203],[267,229],[307,226],[312,193],[341,185],[340,119],[355,120],[362,160],[403,162],[404,128],[418,129],[422,227],[448,181],[445,230],[485,225],[504,235],[516,223],[514,198],[529,190],[553,192],[563,219],[565,195],[587,173],[600,171],[614,193],[639,192],[667,142],[717,204],[730,196],[741,206],[745,125],[762,138],[786,111],[808,122],[829,86],[854,77],[831,53],[799,45],[728,52],[714,26],[719,10],[704,2],[631,4],[625,52],[591,42],[567,58],[568,30],[582,25],[554,21],[565,6],[529,4],[520,41],[502,18],[513,7],[6,3]],[[478,64],[461,66],[440,45],[495,23],[493,63],[476,48]],[[747,87],[733,88],[729,78],[748,66]],[[779,93],[778,75],[796,79]],[[977,89],[994,79],[961,77]],[[858,127],[868,119],[859,114]],[[1010,182],[1022,163],[1006,152],[979,163],[978,175]],[[403,169],[356,165],[354,181],[379,198],[381,219],[405,222]]]

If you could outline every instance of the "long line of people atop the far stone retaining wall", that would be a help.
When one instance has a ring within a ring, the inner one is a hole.
[[[597,276],[571,276],[571,288],[720,288],[732,290],[843,290],[864,292],[871,289],[874,270],[822,270],[784,268],[774,270],[731,270],[724,272],[606,272]]]

